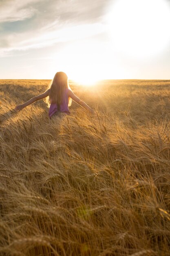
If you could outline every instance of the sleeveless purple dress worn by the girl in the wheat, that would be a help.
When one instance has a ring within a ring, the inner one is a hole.
[[[68,110],[67,92],[68,92],[68,88],[66,88],[66,90],[64,92],[62,103],[60,105],[60,111],[70,114],[70,111]],[[49,117],[52,117],[52,115],[57,111],[58,111],[57,110],[57,104],[56,103],[51,103],[50,108],[49,108]]]

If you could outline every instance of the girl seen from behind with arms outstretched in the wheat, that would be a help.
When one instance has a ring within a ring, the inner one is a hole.
[[[54,113],[64,112],[70,114],[68,107],[71,106],[71,99],[77,102],[80,106],[86,110],[94,113],[84,101],[81,101],[75,94],[71,91],[68,85],[68,77],[64,72],[57,72],[52,80],[49,89],[46,92],[33,97],[29,101],[26,101],[24,104],[18,105],[14,110],[22,110],[26,106],[48,97],[46,102],[49,105],[49,117],[52,117]]]

